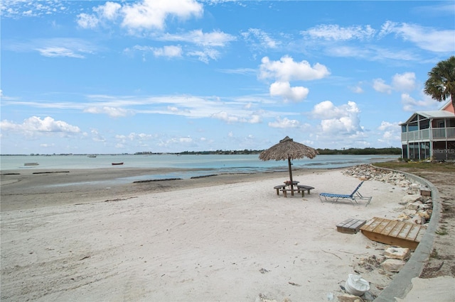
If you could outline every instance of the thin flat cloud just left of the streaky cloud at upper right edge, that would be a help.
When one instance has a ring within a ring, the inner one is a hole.
[[[302,32],[311,38],[321,38],[324,40],[363,40],[370,39],[376,33],[371,26],[349,26],[341,27],[335,24],[323,24],[310,28]]]

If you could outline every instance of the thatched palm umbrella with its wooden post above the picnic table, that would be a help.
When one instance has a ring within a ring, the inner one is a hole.
[[[312,147],[308,147],[299,142],[294,142],[292,138],[287,136],[277,143],[269,147],[269,149],[264,150],[259,154],[259,160],[287,160],[289,166],[289,179],[291,181],[291,189],[294,189],[292,184],[292,169],[291,169],[291,160],[296,160],[299,158],[314,158],[318,155],[318,151]],[[294,195],[294,191],[291,191],[291,195]]]

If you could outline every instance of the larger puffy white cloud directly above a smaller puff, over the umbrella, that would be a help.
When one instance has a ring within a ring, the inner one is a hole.
[[[279,82],[322,79],[330,74],[324,65],[316,63],[311,67],[309,62],[305,60],[294,62],[294,59],[288,56],[282,57],[279,61],[271,61],[269,57],[263,57],[259,72],[259,77],[263,79],[273,78]]]

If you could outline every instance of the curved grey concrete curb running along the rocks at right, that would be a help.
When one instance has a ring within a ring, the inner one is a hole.
[[[385,169],[382,167],[377,168]],[[429,190],[432,191],[433,213],[432,218],[429,220],[427,231],[422,237],[422,240],[420,240],[419,245],[417,245],[417,249],[415,249],[412,257],[407,261],[392,282],[390,282],[390,284],[382,290],[380,295],[375,298],[375,302],[397,301],[396,298],[405,298],[407,293],[410,292],[412,289],[412,278],[418,277],[422,273],[424,262],[429,259],[429,255],[432,253],[434,236],[439,225],[439,219],[441,218],[441,199],[439,198],[439,191],[436,186],[427,181],[427,179],[423,179],[414,174],[392,169],[385,170],[405,174],[406,178],[410,179],[410,181],[427,186]]]

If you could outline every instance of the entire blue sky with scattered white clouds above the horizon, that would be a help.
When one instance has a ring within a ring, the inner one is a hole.
[[[1,1],[1,153],[400,147],[454,1]]]

